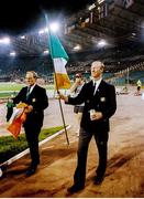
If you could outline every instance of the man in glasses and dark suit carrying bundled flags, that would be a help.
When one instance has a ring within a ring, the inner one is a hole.
[[[25,103],[29,105],[29,113],[23,127],[32,160],[26,176],[33,175],[40,164],[38,135],[43,126],[44,109],[48,106],[46,91],[36,84],[36,78],[37,74],[34,71],[26,72],[27,86],[23,87],[13,98],[13,104]]]

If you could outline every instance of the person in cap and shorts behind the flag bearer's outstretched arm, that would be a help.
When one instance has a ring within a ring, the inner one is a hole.
[[[79,94],[79,92],[81,91],[84,84],[85,84],[85,82],[82,78],[82,74],[77,73],[75,75],[75,82],[70,87],[70,96],[76,97]],[[74,106],[74,113],[76,114],[77,121],[78,121],[78,129],[76,132],[78,136],[79,136],[79,126],[80,126],[80,122],[81,122],[81,117],[82,117],[82,111],[84,111],[84,103]]]

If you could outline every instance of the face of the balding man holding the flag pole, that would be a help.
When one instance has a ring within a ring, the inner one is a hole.
[[[101,69],[101,63],[100,62],[93,62],[91,64],[91,76],[93,78],[100,78],[103,70]]]

